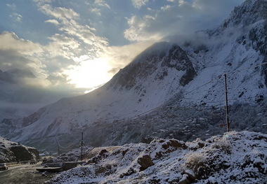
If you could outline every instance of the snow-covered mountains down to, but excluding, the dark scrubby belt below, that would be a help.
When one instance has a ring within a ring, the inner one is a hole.
[[[109,130],[102,134],[107,137],[123,132],[112,127],[126,120],[131,124],[133,118],[169,103],[220,108],[225,100],[224,73],[229,104],[259,104],[267,92],[266,8],[267,1],[247,0],[218,27],[198,31],[183,44],[156,43],[103,87],[60,99],[27,118],[3,120],[0,134],[48,148],[56,145],[55,136],[67,144],[77,143],[78,132],[100,134],[105,127]],[[89,141],[103,144],[92,136]]]

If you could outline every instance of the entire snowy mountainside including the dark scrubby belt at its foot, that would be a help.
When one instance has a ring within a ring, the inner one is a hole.
[[[218,27],[197,31],[183,44],[156,43],[103,87],[25,118],[2,120],[0,135],[55,150],[55,136],[62,144],[78,143],[81,132],[93,146],[220,134],[224,74],[233,129],[264,131],[266,6],[263,0],[245,1]],[[242,124],[238,118],[244,118]]]

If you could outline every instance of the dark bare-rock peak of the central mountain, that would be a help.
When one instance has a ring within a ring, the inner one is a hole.
[[[197,74],[188,55],[177,44],[155,43],[138,55],[128,66],[121,69],[112,79],[110,86],[131,90],[142,80],[148,80],[148,78],[164,80],[171,71],[181,73],[178,78],[182,86],[187,85]]]

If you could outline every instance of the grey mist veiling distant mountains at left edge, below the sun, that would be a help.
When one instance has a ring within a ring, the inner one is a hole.
[[[48,76],[47,83],[53,80],[53,76]],[[65,89],[42,86],[30,69],[0,70],[0,120],[23,118],[62,97],[73,96]]]

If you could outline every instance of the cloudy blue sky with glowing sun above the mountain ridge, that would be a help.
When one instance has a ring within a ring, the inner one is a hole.
[[[17,84],[58,98],[84,94],[152,43],[216,27],[243,1],[0,0],[0,70],[30,70]]]

